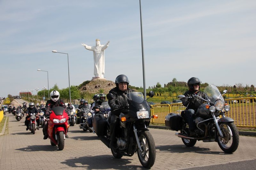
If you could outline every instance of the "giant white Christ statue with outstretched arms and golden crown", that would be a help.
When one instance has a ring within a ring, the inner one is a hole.
[[[95,78],[104,78],[104,74],[105,74],[104,50],[108,48],[109,42],[110,41],[108,41],[105,45],[100,45],[100,40],[96,39],[96,46],[88,46],[86,44],[82,44],[85,47],[85,49],[93,51]]]

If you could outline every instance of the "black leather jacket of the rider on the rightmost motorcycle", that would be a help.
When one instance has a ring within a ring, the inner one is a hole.
[[[194,96],[194,95],[200,96],[200,97],[202,97],[202,98],[205,99],[205,94],[204,94],[204,92],[201,92],[201,91],[195,92],[195,91],[188,90],[188,91],[186,91],[186,92],[184,93],[184,96],[186,96],[186,97],[192,97],[192,96]],[[187,98],[183,98],[183,99],[182,99],[182,104],[183,104],[184,106],[187,106],[187,105],[189,104],[188,107],[187,107],[187,109],[194,109],[194,110],[196,110],[196,109],[198,109],[198,107],[199,107],[202,103],[203,103],[203,101],[200,100],[200,99],[198,99],[198,98],[193,99],[193,100],[190,100],[190,102],[189,102],[189,100],[188,100]]]

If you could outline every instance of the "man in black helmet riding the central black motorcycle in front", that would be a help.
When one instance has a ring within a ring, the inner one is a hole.
[[[109,100],[108,102],[111,108],[111,115],[110,115],[111,139],[110,139],[109,148],[116,148],[115,129],[116,127],[119,126],[119,115],[121,113],[121,109],[118,109],[118,108],[129,106],[127,102],[126,94],[130,92],[134,92],[133,90],[128,88],[129,79],[126,75],[121,74],[117,76],[115,80],[115,84],[116,84],[116,87],[109,91],[109,93],[112,93],[114,95],[114,99]]]

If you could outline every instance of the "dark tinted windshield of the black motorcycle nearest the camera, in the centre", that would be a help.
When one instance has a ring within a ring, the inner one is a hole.
[[[133,105],[136,108],[139,108],[140,111],[148,110],[147,109],[147,103],[146,103],[146,101],[143,97],[143,94],[141,92],[127,93],[126,97],[129,101],[129,104]]]

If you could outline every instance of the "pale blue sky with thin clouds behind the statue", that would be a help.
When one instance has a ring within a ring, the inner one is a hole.
[[[256,85],[255,0],[141,0],[145,86],[198,77],[217,86]],[[1,0],[0,96],[94,76],[93,52],[110,41],[105,78],[143,87],[139,0]],[[36,92],[33,92],[36,94]]]

